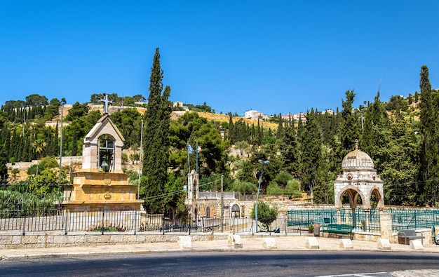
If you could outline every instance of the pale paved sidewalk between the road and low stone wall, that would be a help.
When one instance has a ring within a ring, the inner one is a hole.
[[[318,249],[306,248],[306,236],[266,236],[274,238],[276,248],[267,249],[263,246],[262,237],[242,238],[242,248],[234,248],[227,240],[192,241],[191,248],[180,248],[175,243],[141,243],[141,244],[105,244],[84,245],[62,248],[22,248],[0,250],[0,260],[38,259],[48,257],[75,257],[87,255],[130,255],[152,252],[196,252],[196,251],[377,251],[377,252],[435,252],[439,253],[439,245],[426,244],[424,249],[410,249],[410,245],[391,244],[391,250],[378,249],[377,242],[352,241],[353,248],[344,249],[339,238],[316,238]]]

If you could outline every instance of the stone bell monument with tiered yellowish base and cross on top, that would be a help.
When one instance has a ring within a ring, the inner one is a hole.
[[[128,183],[122,171],[123,136],[107,114],[104,95],[104,116],[83,140],[82,168],[73,173],[73,184],[65,187],[62,202],[71,210],[140,210],[137,186]]]

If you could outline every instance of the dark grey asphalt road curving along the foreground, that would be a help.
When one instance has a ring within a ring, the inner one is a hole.
[[[0,276],[328,276],[437,269],[439,256],[399,252],[175,252],[0,261]],[[344,275],[346,276],[346,275]],[[353,275],[352,275],[353,276]]]

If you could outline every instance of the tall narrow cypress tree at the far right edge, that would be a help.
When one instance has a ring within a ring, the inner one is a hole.
[[[439,133],[438,133],[438,112],[433,104],[431,95],[431,84],[428,79],[428,67],[421,67],[421,89],[420,104],[420,125],[421,148],[419,149],[420,181],[419,192],[421,201],[426,205],[438,204],[439,198]]]

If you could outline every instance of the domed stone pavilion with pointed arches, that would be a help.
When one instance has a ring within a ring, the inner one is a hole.
[[[342,198],[344,194],[349,196],[349,205],[352,212],[357,208],[358,197],[361,199],[362,207],[365,212],[370,212],[371,198],[375,197],[377,208],[384,208],[384,189],[383,182],[374,169],[372,158],[365,152],[356,149],[344,156],[342,161],[342,174],[337,176],[334,182],[335,208],[342,209]],[[369,226],[368,217],[365,222]],[[355,217],[353,226],[356,227]]]

